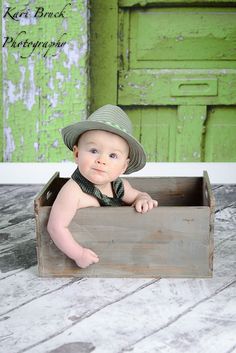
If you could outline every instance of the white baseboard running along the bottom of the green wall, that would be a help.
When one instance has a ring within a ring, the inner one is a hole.
[[[0,184],[45,184],[55,172],[69,177],[75,168],[72,162],[0,163]],[[147,163],[132,176],[202,176],[204,170],[212,184],[236,183],[236,163]]]

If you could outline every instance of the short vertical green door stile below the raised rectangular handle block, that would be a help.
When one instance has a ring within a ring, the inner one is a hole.
[[[176,135],[176,160],[202,161],[202,137],[206,120],[205,106],[179,106]]]

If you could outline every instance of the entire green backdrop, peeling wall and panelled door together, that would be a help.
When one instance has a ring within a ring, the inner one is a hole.
[[[165,3],[3,0],[1,160],[71,160],[60,129],[113,103],[149,161],[236,161],[236,1]]]

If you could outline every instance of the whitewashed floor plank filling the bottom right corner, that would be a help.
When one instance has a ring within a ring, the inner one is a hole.
[[[236,281],[119,353],[215,353],[235,345]]]

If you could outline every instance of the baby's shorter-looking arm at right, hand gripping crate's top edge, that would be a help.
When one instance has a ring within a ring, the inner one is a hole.
[[[125,189],[123,201],[128,205],[133,205],[137,212],[145,213],[158,206],[156,200],[153,200],[146,192],[134,189],[128,180],[123,180],[123,183]]]

